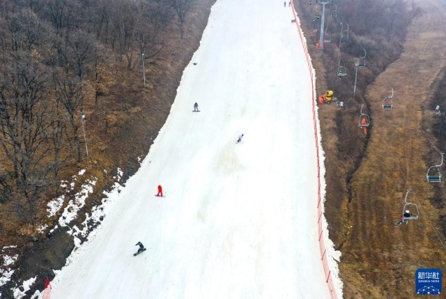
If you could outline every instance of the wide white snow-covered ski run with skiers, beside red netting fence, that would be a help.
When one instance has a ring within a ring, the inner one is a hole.
[[[282,1],[217,0],[167,122],[52,299],[330,298],[312,82],[292,18]]]

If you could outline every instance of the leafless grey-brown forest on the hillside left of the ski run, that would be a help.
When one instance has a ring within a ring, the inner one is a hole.
[[[128,70],[156,59],[194,1],[3,1],[0,10],[0,203],[36,225],[42,197],[59,195],[63,167],[84,160],[86,102],[98,105]],[[144,54],[144,55],[143,55]]]

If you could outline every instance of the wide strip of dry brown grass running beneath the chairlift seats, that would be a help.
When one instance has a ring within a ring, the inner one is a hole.
[[[431,204],[433,186],[425,177],[424,159],[432,149],[421,130],[422,104],[430,100],[431,86],[445,67],[446,10],[438,1],[415,4],[425,13],[408,28],[400,59],[365,93],[372,128],[351,181],[351,222],[340,263],[345,298],[410,298],[417,268],[446,266],[446,249],[433,231],[441,235],[439,211]],[[392,87],[394,109],[383,110]],[[408,189],[420,220],[396,227]]]

